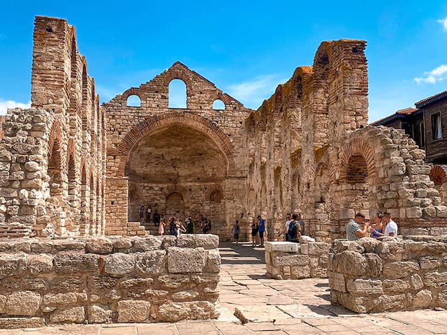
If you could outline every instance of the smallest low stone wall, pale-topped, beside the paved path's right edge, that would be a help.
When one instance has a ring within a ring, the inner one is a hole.
[[[326,278],[329,244],[265,242],[267,275],[274,279]]]

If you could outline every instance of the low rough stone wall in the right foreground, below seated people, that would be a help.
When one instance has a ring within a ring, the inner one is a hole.
[[[447,236],[336,240],[328,278],[332,304],[358,313],[447,308]]]

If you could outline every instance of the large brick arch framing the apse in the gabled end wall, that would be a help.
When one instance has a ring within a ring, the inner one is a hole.
[[[184,125],[205,133],[210,136],[217,147],[225,154],[228,161],[228,174],[235,174],[235,158],[233,154],[233,144],[231,144],[228,137],[217,124],[208,121],[196,114],[189,112],[169,112],[166,114],[149,117],[142,123],[133,127],[124,139],[119,143],[118,152],[122,157],[117,171],[118,177],[124,177],[124,170],[126,162],[129,159],[129,154],[133,146],[145,135],[152,133],[156,129],[165,126]]]

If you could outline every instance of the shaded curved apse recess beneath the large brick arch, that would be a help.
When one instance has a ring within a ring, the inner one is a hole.
[[[124,174],[129,178],[129,221],[138,221],[149,204],[181,220],[200,211],[216,224],[224,223],[222,189],[228,159],[210,135],[185,124],[168,124],[142,135],[129,152]],[[219,198],[219,206],[215,205]]]

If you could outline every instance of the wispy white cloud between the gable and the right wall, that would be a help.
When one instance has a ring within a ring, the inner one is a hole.
[[[278,84],[286,82],[279,75],[263,75],[248,82],[231,84],[228,86],[228,94],[244,103],[246,107],[256,109],[261,103],[270,98]]]

